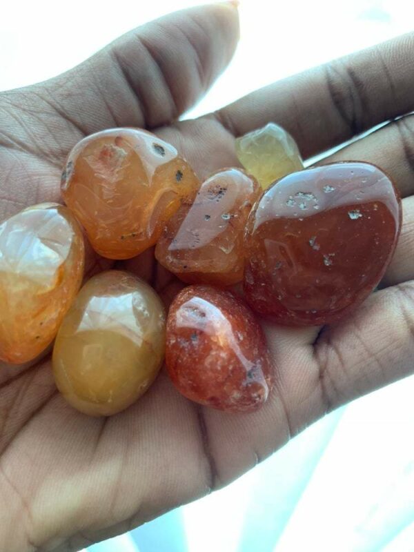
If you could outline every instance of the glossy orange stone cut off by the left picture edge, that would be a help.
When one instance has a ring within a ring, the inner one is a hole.
[[[29,362],[52,342],[81,285],[83,249],[79,224],[58,204],[0,225],[0,360]]]

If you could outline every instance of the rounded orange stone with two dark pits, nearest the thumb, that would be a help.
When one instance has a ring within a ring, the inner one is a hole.
[[[177,150],[150,132],[114,128],[81,140],[63,170],[63,199],[97,253],[128,259],[157,242],[199,181]]]

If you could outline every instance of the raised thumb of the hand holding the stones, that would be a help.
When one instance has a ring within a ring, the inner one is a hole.
[[[235,3],[183,10],[128,32],[38,88],[83,134],[165,125],[206,92],[238,35]]]

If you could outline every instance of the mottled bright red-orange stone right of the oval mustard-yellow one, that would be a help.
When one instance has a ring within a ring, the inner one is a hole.
[[[172,302],[166,365],[183,395],[223,411],[257,410],[272,387],[272,362],[255,315],[233,293],[211,286],[189,286]]]

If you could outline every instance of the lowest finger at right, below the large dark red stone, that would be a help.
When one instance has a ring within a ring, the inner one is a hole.
[[[413,371],[414,282],[371,295],[315,344],[319,391],[331,410]]]

